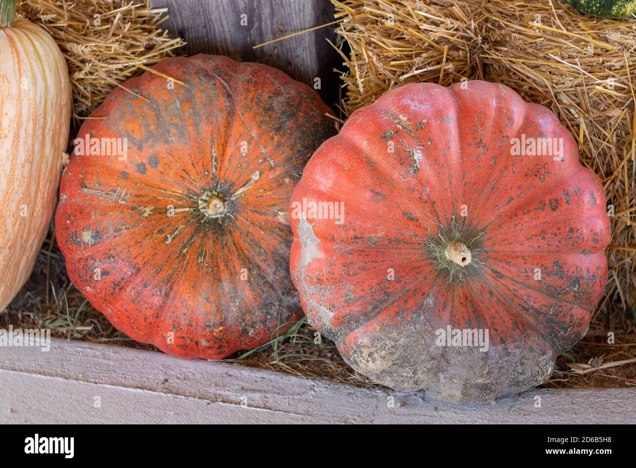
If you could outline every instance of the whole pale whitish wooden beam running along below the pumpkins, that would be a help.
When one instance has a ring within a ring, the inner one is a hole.
[[[424,392],[356,388],[114,345],[53,339],[49,352],[0,348],[0,423],[632,423],[635,398],[630,389],[541,389],[460,406]]]

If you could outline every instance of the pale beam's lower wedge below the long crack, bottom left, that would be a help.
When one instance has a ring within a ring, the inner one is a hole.
[[[235,423],[303,420],[280,411],[20,372],[0,372],[0,386],[3,423],[218,423],[228,422],[230,414]]]

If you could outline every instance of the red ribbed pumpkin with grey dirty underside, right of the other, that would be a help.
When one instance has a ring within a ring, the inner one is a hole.
[[[315,152],[292,206],[343,202],[343,222],[295,217],[291,273],[309,322],[354,369],[484,402],[543,383],[584,335],[609,220],[551,111],[503,85],[464,87],[392,90]],[[555,139],[562,157],[514,138]],[[488,330],[488,350],[440,343],[448,327]]]

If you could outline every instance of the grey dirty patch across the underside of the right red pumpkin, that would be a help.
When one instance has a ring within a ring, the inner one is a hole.
[[[508,346],[437,346],[434,329],[421,317],[356,341],[337,343],[347,364],[383,385],[401,392],[424,389],[436,399],[456,403],[487,403],[504,394],[523,392],[544,383],[555,355],[539,344],[526,350]]]

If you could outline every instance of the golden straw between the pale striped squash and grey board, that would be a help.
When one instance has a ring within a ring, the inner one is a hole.
[[[114,87],[172,57],[184,42],[160,25],[167,9],[149,0],[24,0],[18,16],[53,36],[66,58],[73,115],[88,116]],[[125,88],[124,88],[125,89]]]

